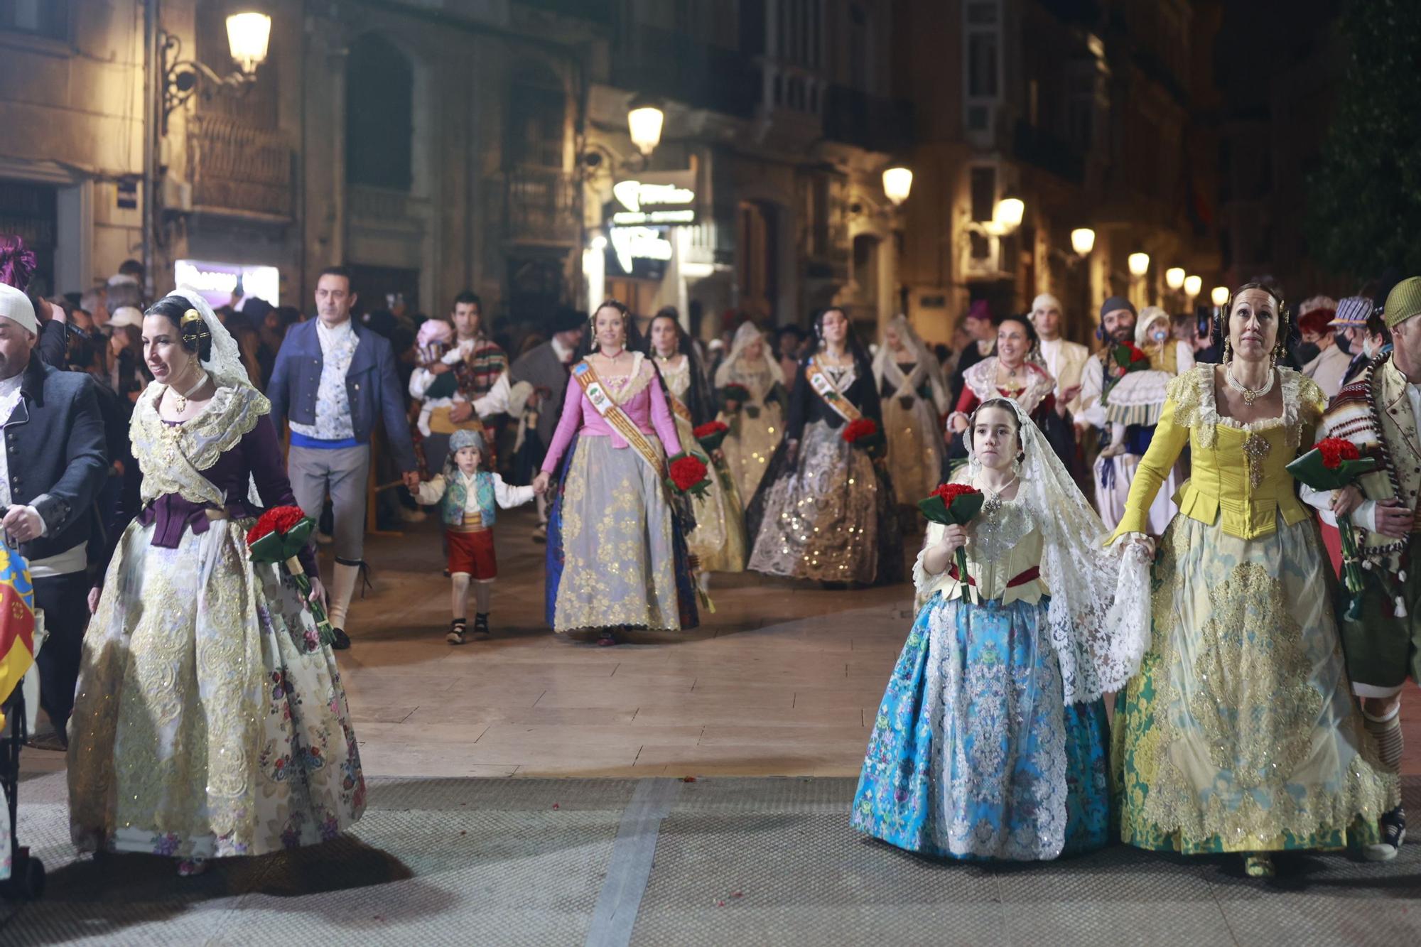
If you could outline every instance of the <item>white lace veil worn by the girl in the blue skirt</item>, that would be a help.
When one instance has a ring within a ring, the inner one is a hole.
[[[1026,458],[1017,501],[1042,528],[1047,623],[1067,704],[1118,691],[1150,647],[1150,563],[1130,545],[1104,547],[1108,532],[1052,445],[1016,401]],[[971,444],[971,439],[969,439]],[[975,464],[971,446],[969,462]]]

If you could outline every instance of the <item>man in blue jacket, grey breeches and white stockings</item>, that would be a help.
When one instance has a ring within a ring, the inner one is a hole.
[[[350,647],[345,617],[365,552],[365,486],[377,415],[405,486],[419,486],[395,355],[389,341],[351,321],[354,304],[350,272],[321,270],[318,317],[291,326],[267,385],[273,421],[279,428],[283,419],[291,422],[287,472],[296,502],[307,516],[318,518],[330,495],[335,513],[330,620],[337,648]]]

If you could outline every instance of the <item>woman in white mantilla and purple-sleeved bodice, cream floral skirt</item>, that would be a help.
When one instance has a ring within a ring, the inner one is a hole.
[[[148,310],[144,353],[144,509],[84,638],[70,820],[82,850],[166,855],[196,874],[335,838],[365,781],[331,648],[296,580],[247,550],[249,483],[267,508],[296,506],[266,397],[195,290]],[[308,545],[300,560],[324,600]]]

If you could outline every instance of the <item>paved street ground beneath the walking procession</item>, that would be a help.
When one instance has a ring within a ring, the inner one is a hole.
[[[266,944],[1407,944],[1421,843],[1391,865],[1113,847],[1044,866],[942,865],[860,839],[853,776],[909,593],[718,577],[718,611],[620,648],[541,627],[541,547],[500,518],[493,641],[442,643],[439,540],[372,539],[377,593],[341,656],[371,782],[347,836],[179,880],[75,859],[63,758],[27,751],[20,838],[45,897],[0,947]],[[1421,700],[1403,710],[1421,812]],[[507,779],[503,776],[514,776]],[[681,776],[695,775],[693,782]],[[544,778],[554,776],[554,778]]]

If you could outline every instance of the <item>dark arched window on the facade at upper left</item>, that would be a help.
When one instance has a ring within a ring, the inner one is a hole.
[[[345,60],[345,183],[409,191],[415,71],[384,37],[367,33]]]

